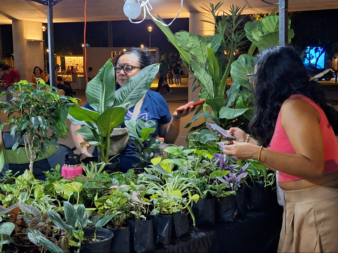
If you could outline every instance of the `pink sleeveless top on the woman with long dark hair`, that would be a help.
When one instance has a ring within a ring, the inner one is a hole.
[[[338,142],[333,132],[333,129],[329,123],[328,118],[326,117],[324,111],[309,99],[306,96],[294,94],[289,97],[289,99],[299,98],[303,99],[316,108],[320,114],[320,128],[321,134],[323,136],[323,147],[324,147],[324,173],[334,172],[338,170]],[[281,111],[278,114],[275,130],[270,142],[269,149],[275,150],[278,152],[295,154],[291,142],[288,136],[285,133],[285,130],[281,124]],[[279,171],[278,181],[280,182],[290,182],[302,179],[301,177],[291,176],[289,174]]]

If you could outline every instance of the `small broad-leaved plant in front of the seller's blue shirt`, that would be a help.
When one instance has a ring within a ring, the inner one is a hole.
[[[144,168],[151,164],[154,157],[154,150],[161,145],[161,141],[152,137],[156,130],[154,121],[145,119],[127,120],[125,122],[128,128],[128,134],[131,137],[130,142],[136,146],[134,153],[141,160],[139,164],[133,164],[135,168]]]

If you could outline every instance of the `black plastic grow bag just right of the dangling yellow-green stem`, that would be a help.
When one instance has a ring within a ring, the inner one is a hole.
[[[216,199],[199,199],[194,203],[192,210],[197,226],[210,226],[215,224]]]

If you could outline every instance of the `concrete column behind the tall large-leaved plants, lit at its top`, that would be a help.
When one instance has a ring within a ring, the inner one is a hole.
[[[203,35],[206,37],[210,37],[215,34],[215,26],[210,23],[203,22],[202,20],[213,21],[214,18],[211,14],[205,12],[190,12],[189,16],[189,32],[195,33],[197,35]],[[197,88],[194,92],[193,89],[193,76],[189,74],[189,101],[199,101],[199,91],[200,88]]]

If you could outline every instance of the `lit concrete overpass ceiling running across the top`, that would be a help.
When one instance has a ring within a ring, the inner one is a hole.
[[[88,21],[127,20],[123,13],[123,0],[87,0]],[[180,8],[181,0],[150,0],[152,13],[162,18],[174,18]],[[184,7],[179,18],[188,18],[190,12],[204,11],[204,4],[217,4],[219,0],[184,0]],[[260,0],[223,0],[222,10],[229,6],[246,5],[244,14],[268,13],[272,5]],[[278,2],[269,0],[269,2]],[[289,11],[318,10],[337,8],[337,0],[289,0]],[[54,22],[83,22],[84,0],[63,0],[53,7]],[[0,1],[0,24],[11,24],[12,20],[30,20],[47,22],[46,6],[25,0]]]

